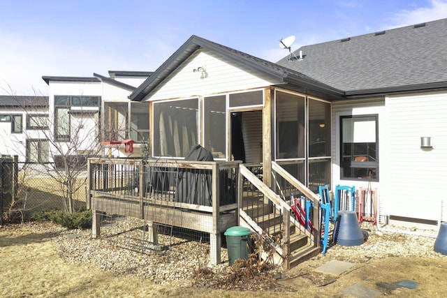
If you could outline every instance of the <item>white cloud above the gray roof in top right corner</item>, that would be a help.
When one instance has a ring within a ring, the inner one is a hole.
[[[412,24],[440,20],[447,17],[446,0],[429,0],[428,7],[415,8],[414,10],[400,10],[390,19],[390,24],[383,29],[404,27]]]

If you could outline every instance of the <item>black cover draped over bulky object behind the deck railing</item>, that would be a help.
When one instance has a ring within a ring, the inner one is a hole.
[[[197,144],[185,161],[214,161],[207,149]],[[212,170],[182,169],[177,184],[177,202],[212,206]]]

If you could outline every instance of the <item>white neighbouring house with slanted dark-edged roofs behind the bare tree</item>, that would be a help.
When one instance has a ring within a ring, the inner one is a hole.
[[[61,151],[70,151],[70,155],[101,155],[103,151],[98,145],[102,141],[108,144],[104,146],[108,147],[108,155],[129,156],[122,141],[147,141],[148,105],[131,103],[128,96],[149,75],[150,72],[110,70],[109,77],[97,73],[93,77],[43,76],[49,86],[52,136]],[[110,141],[114,141],[113,145]],[[71,149],[65,144],[71,144]],[[53,151],[52,157],[61,154],[54,148]]]

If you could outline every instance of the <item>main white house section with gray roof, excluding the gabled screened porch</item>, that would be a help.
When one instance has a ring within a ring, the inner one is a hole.
[[[446,29],[444,19],[333,40],[278,62],[344,91],[331,102],[332,186],[379,189],[380,214],[398,223],[447,220]]]

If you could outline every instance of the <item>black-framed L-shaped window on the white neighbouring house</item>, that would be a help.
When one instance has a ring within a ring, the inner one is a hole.
[[[71,112],[94,112],[100,103],[99,96],[54,96],[54,140],[71,140]],[[85,111],[82,109],[84,107]]]

